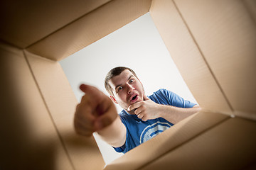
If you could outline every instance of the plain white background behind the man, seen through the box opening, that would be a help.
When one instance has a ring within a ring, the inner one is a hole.
[[[136,72],[147,96],[164,88],[196,103],[149,13],[70,55],[60,64],[78,101],[83,95],[79,90],[81,83],[96,86],[107,94],[104,87],[107,72],[113,67],[125,66]],[[121,108],[117,106],[117,110]],[[122,156],[96,135],[95,139],[106,164]]]

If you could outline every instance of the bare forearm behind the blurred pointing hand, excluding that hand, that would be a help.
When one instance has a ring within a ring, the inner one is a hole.
[[[126,140],[126,128],[119,116],[117,116],[112,124],[97,131],[97,134],[102,140],[113,147],[121,147]]]

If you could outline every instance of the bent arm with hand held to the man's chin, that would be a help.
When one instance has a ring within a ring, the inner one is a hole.
[[[184,118],[187,118],[189,115],[193,115],[201,110],[198,105],[193,106],[193,108],[177,108],[174,106],[154,103],[154,101],[151,101],[147,97],[145,97],[144,100],[145,101],[134,103],[128,108],[128,111],[136,109],[134,113],[143,121],[161,117],[176,124]]]

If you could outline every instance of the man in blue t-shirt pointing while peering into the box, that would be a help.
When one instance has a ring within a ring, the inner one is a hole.
[[[85,136],[97,132],[117,152],[128,152],[201,110],[165,89],[147,97],[142,82],[127,67],[110,70],[105,88],[111,100],[93,86],[80,86],[85,96],[75,112],[75,130]],[[119,116],[112,101],[124,108]]]

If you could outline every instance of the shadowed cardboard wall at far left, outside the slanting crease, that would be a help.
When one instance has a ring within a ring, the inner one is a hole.
[[[0,54],[1,169],[73,169],[23,52]]]

